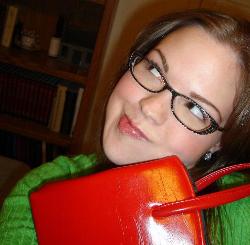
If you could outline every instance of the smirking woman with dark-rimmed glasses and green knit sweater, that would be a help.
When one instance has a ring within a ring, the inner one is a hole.
[[[249,30],[248,22],[192,11],[141,33],[107,103],[102,137],[107,159],[125,165],[178,155],[196,176],[249,161]],[[59,157],[20,181],[2,209],[0,243],[36,244],[29,193],[52,179],[82,175],[94,158]],[[226,185],[240,182],[243,175],[224,179]],[[240,217],[232,212],[235,204],[225,208],[228,216],[207,214],[211,243],[248,244],[249,198],[237,203]],[[219,219],[222,225],[216,226]]]

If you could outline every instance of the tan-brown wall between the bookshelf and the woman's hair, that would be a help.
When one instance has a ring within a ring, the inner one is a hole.
[[[166,13],[197,8],[199,4],[200,0],[120,0],[101,74],[105,77],[112,74],[110,64],[122,62],[137,33],[145,25]]]

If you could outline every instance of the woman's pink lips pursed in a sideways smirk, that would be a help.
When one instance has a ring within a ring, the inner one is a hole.
[[[118,123],[118,128],[121,133],[127,134],[135,139],[148,140],[145,134],[143,134],[143,132],[140,129],[138,129],[135,125],[133,125],[133,123],[126,115],[123,115],[120,118],[120,121]]]

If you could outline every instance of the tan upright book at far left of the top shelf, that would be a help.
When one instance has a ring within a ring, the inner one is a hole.
[[[10,5],[7,10],[7,15],[5,19],[3,34],[1,44],[2,46],[8,48],[11,44],[13,32],[16,24],[18,8],[16,6]]]

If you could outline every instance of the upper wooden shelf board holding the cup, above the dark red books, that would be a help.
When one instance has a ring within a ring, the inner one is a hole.
[[[0,61],[85,85],[87,71],[51,58],[44,51],[0,47]]]

